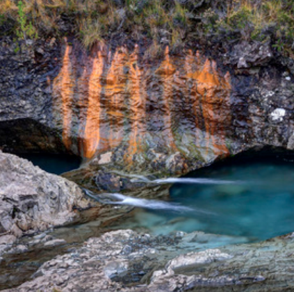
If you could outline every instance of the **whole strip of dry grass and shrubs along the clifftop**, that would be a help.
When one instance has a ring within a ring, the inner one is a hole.
[[[0,31],[17,32],[18,38],[76,35],[85,47],[114,38],[145,39],[154,52],[191,40],[259,40],[292,56],[294,1],[2,0]]]

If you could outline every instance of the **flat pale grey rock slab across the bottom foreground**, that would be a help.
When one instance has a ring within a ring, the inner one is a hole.
[[[108,232],[47,261],[34,279],[6,292],[294,289],[289,264],[293,236],[205,250],[221,237],[202,232],[157,237],[131,230]],[[209,242],[203,243],[204,238]]]

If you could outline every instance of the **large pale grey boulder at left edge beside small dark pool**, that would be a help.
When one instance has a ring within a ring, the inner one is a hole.
[[[0,151],[0,252],[23,234],[79,220],[90,203],[81,188]]]

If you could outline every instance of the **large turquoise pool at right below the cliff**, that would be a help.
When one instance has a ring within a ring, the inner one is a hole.
[[[294,162],[243,159],[190,173],[188,177],[232,184],[174,184],[170,203],[193,211],[139,209],[125,225],[154,234],[204,231],[259,241],[294,231]]]

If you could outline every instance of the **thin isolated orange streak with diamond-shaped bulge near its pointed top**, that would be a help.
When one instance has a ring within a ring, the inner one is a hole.
[[[165,48],[165,60],[161,63],[161,66],[156,70],[156,73],[161,75],[163,81],[163,102],[165,107],[165,114],[163,115],[165,121],[165,138],[168,140],[168,145],[172,149],[177,149],[174,144],[174,136],[172,134],[172,113],[170,111],[170,99],[173,96],[172,85],[174,81],[174,73],[176,68],[170,62],[170,54],[168,47]]]

